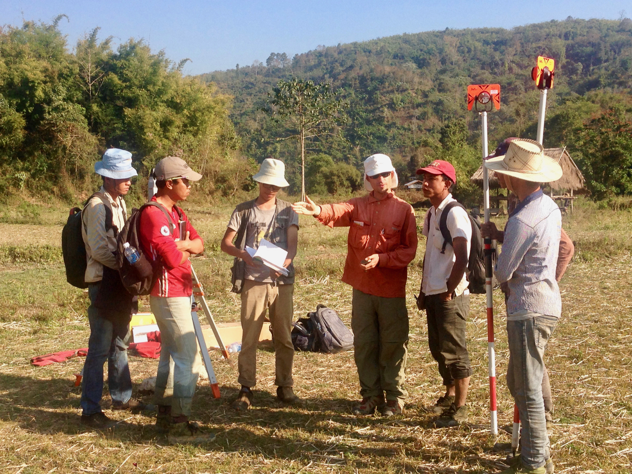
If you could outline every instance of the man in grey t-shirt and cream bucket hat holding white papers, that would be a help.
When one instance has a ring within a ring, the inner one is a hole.
[[[233,402],[235,410],[247,410],[252,404],[252,387],[257,384],[257,343],[266,310],[274,331],[277,398],[297,403],[293,390],[292,363],[294,346],[291,325],[294,316],[294,265],[298,243],[298,216],[291,204],[277,198],[281,188],[289,186],[283,161],[266,158],[252,177],[259,185],[256,199],[238,205],[224,233],[222,251],[235,257],[233,291],[241,293],[241,351],[239,378],[241,390]],[[287,250],[284,276],[262,262],[253,261],[246,246],[257,249],[262,239]],[[233,243],[234,240],[234,243]]]

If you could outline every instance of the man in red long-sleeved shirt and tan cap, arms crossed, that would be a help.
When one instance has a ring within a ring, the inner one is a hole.
[[[202,432],[188,420],[201,363],[191,319],[189,257],[204,251],[204,241],[176,205],[188,197],[190,181],[198,181],[202,175],[174,156],[159,161],[154,174],[158,192],[152,201],[169,214],[167,219],[157,207],[147,207],[140,216],[140,245],[158,272],[149,296],[162,340],[155,388],[159,408],[156,425],[168,430],[171,444],[204,442],[214,435]],[[186,229],[184,235],[181,229]],[[169,358],[173,360],[173,394],[167,390]]]

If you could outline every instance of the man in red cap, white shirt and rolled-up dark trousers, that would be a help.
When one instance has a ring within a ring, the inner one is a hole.
[[[423,174],[423,195],[432,204],[423,220],[427,240],[417,306],[426,310],[428,346],[446,386],[446,394],[429,410],[439,414],[435,426],[457,426],[468,420],[465,398],[472,374],[465,342],[465,321],[470,312],[465,270],[472,228],[465,208],[450,193],[456,183],[454,166],[435,160],[417,174]]]

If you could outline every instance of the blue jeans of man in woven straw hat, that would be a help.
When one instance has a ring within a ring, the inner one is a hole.
[[[520,458],[523,465],[531,469],[544,466],[550,456],[542,376],[544,349],[556,324],[556,317],[539,313],[529,313],[526,319],[507,319],[507,387],[520,411]]]

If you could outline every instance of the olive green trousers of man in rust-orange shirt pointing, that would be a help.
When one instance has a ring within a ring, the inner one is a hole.
[[[408,310],[406,298],[384,298],[353,289],[353,348],[362,398],[406,398]]]

